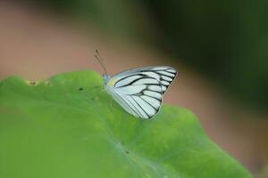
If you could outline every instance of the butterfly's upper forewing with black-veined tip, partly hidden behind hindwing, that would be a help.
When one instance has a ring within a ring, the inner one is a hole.
[[[168,87],[172,85],[172,81],[177,76],[177,73],[177,70],[170,66],[154,66],[147,68],[130,69],[121,72],[114,77],[121,79],[123,77],[128,77],[130,75],[136,74],[143,74],[147,75],[148,77],[154,77],[162,85],[162,92],[165,93]]]

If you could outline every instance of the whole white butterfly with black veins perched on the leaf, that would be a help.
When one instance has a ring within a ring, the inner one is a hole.
[[[105,70],[104,86],[105,91],[131,115],[150,119],[158,113],[163,93],[176,76],[177,70],[169,66],[130,69],[113,77]]]

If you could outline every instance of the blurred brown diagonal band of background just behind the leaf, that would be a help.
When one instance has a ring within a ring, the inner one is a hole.
[[[257,113],[232,100],[180,61],[70,21],[55,20],[28,6],[0,3],[0,78],[16,75],[36,81],[84,69],[103,73],[94,58],[96,49],[111,75],[141,66],[171,65],[179,69],[179,77],[164,102],[192,110],[205,133],[256,175],[268,164],[268,119],[262,119],[268,112]]]

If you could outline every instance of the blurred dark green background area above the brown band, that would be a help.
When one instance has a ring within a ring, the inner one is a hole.
[[[142,41],[211,77],[235,98],[268,107],[268,1],[38,0],[105,34]]]

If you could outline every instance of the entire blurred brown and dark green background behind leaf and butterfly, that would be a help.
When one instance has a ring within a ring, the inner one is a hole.
[[[103,73],[96,49],[111,75],[174,66],[164,101],[192,110],[222,150],[268,177],[267,9],[265,0],[2,0],[0,79]]]

